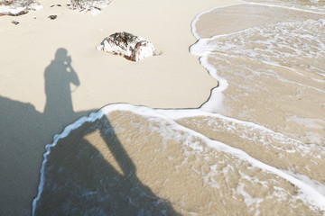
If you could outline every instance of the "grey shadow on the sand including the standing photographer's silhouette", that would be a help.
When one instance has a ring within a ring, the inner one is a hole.
[[[80,82],[67,49],[57,49],[44,79],[44,112],[0,95],[0,215],[31,214],[45,145],[65,126],[96,112],[73,110],[70,84],[78,87]]]

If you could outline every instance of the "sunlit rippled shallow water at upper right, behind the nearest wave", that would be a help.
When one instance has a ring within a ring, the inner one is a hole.
[[[210,100],[203,108],[324,146],[325,14],[255,4],[225,10],[229,15],[246,7],[237,31],[231,33],[211,36],[200,28],[209,22],[209,13],[217,18],[223,8],[202,14],[194,23],[197,37],[209,38],[200,38],[192,52],[202,56],[202,64],[211,68],[220,86],[227,85],[215,96],[222,96],[223,104],[215,107]],[[276,17],[274,22],[270,17]],[[217,32],[221,27],[216,24],[213,29]]]

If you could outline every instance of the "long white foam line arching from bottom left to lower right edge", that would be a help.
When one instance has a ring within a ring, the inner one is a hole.
[[[37,197],[32,202],[32,215],[34,215],[36,203],[39,201],[41,194],[42,194],[42,188],[43,188],[44,180],[45,180],[44,169],[45,169],[45,165],[47,162],[47,156],[51,153],[51,148],[57,144],[59,139],[63,139],[65,137],[67,137],[70,134],[71,130],[77,129],[79,126],[81,126],[85,122],[96,121],[96,120],[100,119],[104,114],[107,115],[107,114],[109,114],[109,112],[113,112],[113,111],[129,111],[129,112],[134,112],[135,114],[139,114],[139,115],[142,115],[142,116],[148,117],[148,118],[163,119],[172,125],[172,129],[189,132],[191,135],[198,137],[198,138],[202,139],[204,142],[206,142],[207,146],[209,146],[210,148],[215,148],[219,151],[225,151],[227,153],[233,154],[233,155],[239,157],[240,159],[246,160],[247,162],[251,163],[252,165],[254,165],[256,167],[259,167],[265,171],[271,172],[274,175],[279,175],[279,176],[283,177],[285,180],[291,182],[292,184],[295,184],[300,189],[300,191],[302,192],[300,194],[300,198],[302,198],[303,202],[307,201],[311,205],[319,207],[321,211],[325,211],[325,197],[323,195],[321,195],[319,192],[317,192],[315,189],[313,189],[310,185],[303,183],[302,181],[294,178],[292,175],[288,175],[273,166],[268,166],[268,165],[262,163],[261,161],[256,160],[253,157],[250,157],[243,150],[230,147],[230,146],[226,145],[225,143],[222,143],[222,142],[219,142],[216,140],[211,140],[195,130],[190,130],[186,127],[183,127],[183,126],[177,124],[175,121],[173,121],[168,116],[166,116],[160,112],[156,112],[155,110],[153,110],[151,108],[144,107],[144,106],[134,106],[131,104],[126,104],[126,103],[116,103],[116,104],[107,105],[107,106],[103,107],[102,109],[100,109],[98,112],[91,113],[89,115],[89,117],[83,117],[83,118],[79,119],[78,121],[75,121],[74,123],[70,124],[63,130],[63,132],[60,135],[57,135],[54,137],[54,141],[52,144],[49,144],[46,146],[47,151],[44,154],[44,160],[42,162],[41,180],[40,180],[40,184],[38,187],[39,191],[38,191]],[[157,110],[157,111],[159,111],[159,110]],[[169,111],[169,112],[172,112],[172,111]],[[176,112],[180,112],[180,111],[176,111]],[[189,112],[189,111],[185,110],[185,112]],[[201,111],[198,110],[198,112],[201,112]]]

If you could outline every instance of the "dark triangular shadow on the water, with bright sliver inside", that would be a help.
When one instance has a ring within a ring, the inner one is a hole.
[[[34,215],[180,215],[139,180],[107,116],[58,139],[44,170]]]

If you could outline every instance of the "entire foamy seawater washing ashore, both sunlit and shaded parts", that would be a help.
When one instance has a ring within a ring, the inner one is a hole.
[[[109,104],[47,145],[33,215],[325,215],[324,1],[198,14],[200,109]]]

